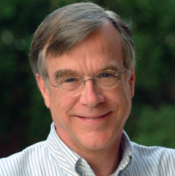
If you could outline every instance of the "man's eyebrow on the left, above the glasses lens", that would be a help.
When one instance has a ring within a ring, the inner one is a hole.
[[[77,72],[73,71],[71,69],[63,69],[63,70],[57,70],[54,73],[54,78],[58,79],[61,77],[69,77],[69,76],[76,76]]]

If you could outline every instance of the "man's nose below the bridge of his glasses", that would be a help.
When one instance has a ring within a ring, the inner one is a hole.
[[[99,103],[105,101],[103,94],[94,86],[93,80],[88,79],[84,82],[84,88],[81,92],[80,103],[89,107],[96,107]]]

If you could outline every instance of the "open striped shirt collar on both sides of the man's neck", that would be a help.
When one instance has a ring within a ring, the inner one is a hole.
[[[51,124],[51,131],[47,138],[47,146],[52,156],[60,163],[60,166],[64,169],[70,169],[83,175],[94,175],[93,170],[89,164],[81,158],[77,153],[71,150],[57,135],[54,123]],[[119,171],[126,170],[132,162],[132,148],[129,137],[123,131],[120,142],[121,162],[117,170],[111,175],[117,175]]]

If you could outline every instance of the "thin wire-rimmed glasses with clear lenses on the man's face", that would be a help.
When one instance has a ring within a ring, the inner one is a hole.
[[[54,84],[50,82],[50,84],[53,87],[56,88],[63,88],[65,91],[65,94],[70,97],[75,97],[79,95],[85,85],[85,81],[92,80],[94,83],[94,86],[96,86],[99,89],[108,90],[114,88],[118,81],[119,77],[125,72],[125,68],[121,73],[117,73],[114,70],[104,70],[101,72],[98,72],[94,78],[86,79],[80,77],[68,77],[63,80],[57,80]],[[50,80],[49,80],[50,81]]]

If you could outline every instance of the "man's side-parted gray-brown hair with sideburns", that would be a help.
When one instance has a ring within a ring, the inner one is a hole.
[[[98,27],[110,22],[121,36],[124,66],[130,69],[135,64],[135,49],[128,26],[120,16],[105,11],[94,3],[75,3],[55,10],[36,30],[31,49],[30,63],[34,74],[47,78],[48,56],[60,56],[82,41]]]

